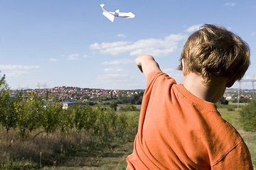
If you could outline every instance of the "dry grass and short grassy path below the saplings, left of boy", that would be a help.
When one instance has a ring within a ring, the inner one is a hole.
[[[137,133],[139,111],[125,113],[127,129],[117,129],[122,130],[122,136],[110,134],[106,142],[84,129],[68,133],[56,130],[46,135],[38,128],[21,140],[18,130],[6,133],[0,127],[0,169],[125,169]],[[114,130],[111,132],[118,134]]]

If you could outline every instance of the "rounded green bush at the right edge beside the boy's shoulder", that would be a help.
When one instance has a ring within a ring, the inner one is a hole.
[[[256,98],[242,108],[240,115],[244,130],[256,132]]]

